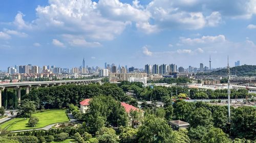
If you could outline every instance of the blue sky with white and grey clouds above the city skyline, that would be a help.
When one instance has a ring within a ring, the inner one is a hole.
[[[0,69],[256,65],[256,0],[4,0]]]

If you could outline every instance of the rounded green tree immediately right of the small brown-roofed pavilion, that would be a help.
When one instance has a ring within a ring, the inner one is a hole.
[[[191,112],[188,121],[191,127],[197,127],[199,125],[206,127],[213,125],[212,120],[211,111],[204,107],[199,107]]]

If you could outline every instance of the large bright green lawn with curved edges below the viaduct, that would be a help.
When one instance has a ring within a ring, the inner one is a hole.
[[[37,117],[39,122],[35,127],[30,127],[28,124],[29,119],[24,118],[14,118],[2,125],[0,128],[7,129],[9,131],[13,130],[26,130],[34,128],[42,128],[50,124],[59,123],[59,122],[68,122],[69,118],[66,115],[66,109],[56,109],[56,110],[46,110],[44,112],[38,112],[32,114],[33,117]],[[9,127],[7,127],[10,125]]]

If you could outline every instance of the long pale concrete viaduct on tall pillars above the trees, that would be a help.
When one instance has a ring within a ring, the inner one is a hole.
[[[31,81],[31,82],[10,82],[10,83],[0,83],[0,107],[2,107],[2,90],[7,92],[7,89],[16,89],[17,98],[20,101],[20,90],[26,88],[26,94],[29,94],[29,91],[32,87],[49,87],[62,84],[90,84],[90,83],[101,83],[102,78],[95,79],[82,79],[82,80],[59,80],[59,81]]]

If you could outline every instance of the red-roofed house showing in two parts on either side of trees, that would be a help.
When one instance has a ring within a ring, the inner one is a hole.
[[[90,101],[90,99],[85,99],[80,102],[80,110],[82,113],[85,113],[86,110],[89,108],[89,101]],[[140,111],[139,108],[136,108],[133,105],[130,105],[130,104],[127,104],[124,102],[121,102],[121,105],[124,107],[124,109],[127,113],[130,113],[131,110]]]

